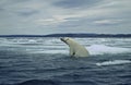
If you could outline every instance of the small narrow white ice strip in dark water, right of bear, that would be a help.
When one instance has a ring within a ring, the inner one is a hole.
[[[96,63],[96,65],[102,66],[102,65],[117,65],[117,64],[126,64],[126,63],[131,63],[131,60],[112,60],[112,61],[104,61]]]

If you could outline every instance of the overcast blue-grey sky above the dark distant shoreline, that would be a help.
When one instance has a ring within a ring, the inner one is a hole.
[[[0,0],[0,35],[131,34],[131,0]]]

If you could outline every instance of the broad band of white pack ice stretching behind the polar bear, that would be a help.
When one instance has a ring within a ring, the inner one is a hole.
[[[131,52],[131,39],[124,38],[75,38],[90,54]],[[67,53],[69,47],[60,38],[0,38],[0,47],[31,53]],[[1,49],[2,50],[2,49]]]

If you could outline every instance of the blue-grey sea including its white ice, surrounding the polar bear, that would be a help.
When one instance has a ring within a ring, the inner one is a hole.
[[[131,38],[74,39],[90,57],[60,38],[1,37],[0,85],[131,85]]]

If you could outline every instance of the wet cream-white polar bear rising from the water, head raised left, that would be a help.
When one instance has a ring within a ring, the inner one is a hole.
[[[60,39],[70,47],[71,57],[88,57],[90,56],[86,48],[78,44],[74,39],[69,38],[69,37],[64,37]]]

